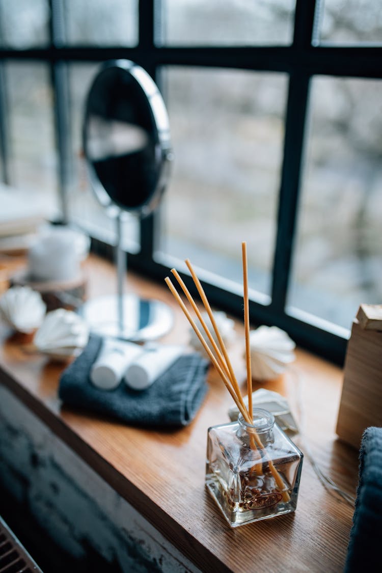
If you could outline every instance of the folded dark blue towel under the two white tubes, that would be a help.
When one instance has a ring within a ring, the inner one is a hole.
[[[105,391],[89,380],[101,344],[101,337],[90,336],[82,354],[62,373],[58,394],[63,402],[132,425],[186,426],[191,422],[207,391],[207,360],[199,354],[184,354],[146,390],[132,390],[122,382],[115,390]]]

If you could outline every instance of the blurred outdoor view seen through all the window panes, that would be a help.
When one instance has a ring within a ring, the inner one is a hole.
[[[66,0],[68,45],[137,42],[137,1]],[[290,45],[292,0],[164,0],[162,45]],[[48,42],[45,0],[2,0],[2,46]],[[326,0],[315,42],[382,43],[380,0]],[[73,62],[70,90],[70,217],[113,236],[93,198],[81,155],[84,99],[99,64]],[[11,184],[58,209],[53,96],[48,64],[7,61]],[[163,66],[175,153],[160,212],[157,256],[168,254],[270,295],[288,75]],[[382,81],[328,76],[310,85],[302,192],[288,304],[348,328],[360,303],[382,303]],[[137,238],[128,217],[126,240]]]

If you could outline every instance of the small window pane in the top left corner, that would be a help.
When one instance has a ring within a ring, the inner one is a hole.
[[[33,48],[49,42],[48,0],[1,0],[1,45]]]

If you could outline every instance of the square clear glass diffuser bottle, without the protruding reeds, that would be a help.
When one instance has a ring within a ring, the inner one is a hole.
[[[206,485],[231,527],[293,512],[303,455],[266,410],[208,429]]]

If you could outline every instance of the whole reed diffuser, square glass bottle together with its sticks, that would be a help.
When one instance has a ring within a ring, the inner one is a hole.
[[[206,293],[190,261],[187,259],[186,265],[211,320],[220,348],[215,343],[210,329],[179,273],[175,269],[171,271],[194,309],[211,347],[204,340],[170,278],[165,278],[168,288],[178,301],[241,413],[237,422],[210,427],[207,437],[206,485],[231,527],[293,512],[297,505],[303,457],[300,450],[274,423],[272,414],[252,407],[249,291],[245,241],[242,242],[242,256],[248,407],[243,401],[238,380]]]

